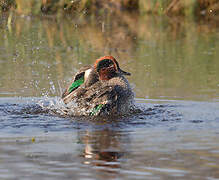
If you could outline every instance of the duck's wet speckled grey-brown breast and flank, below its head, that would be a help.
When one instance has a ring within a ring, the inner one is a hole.
[[[75,102],[88,112],[96,107],[103,107],[99,113],[121,113],[126,111],[133,101],[133,92],[123,76],[107,81],[98,81],[88,88],[80,88],[75,95]]]

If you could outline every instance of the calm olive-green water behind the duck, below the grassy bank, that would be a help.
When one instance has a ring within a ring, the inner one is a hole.
[[[118,18],[117,18],[118,19]],[[148,16],[1,17],[1,96],[60,95],[79,67],[116,56],[137,97],[217,100],[214,24]],[[142,79],[143,77],[143,79]]]

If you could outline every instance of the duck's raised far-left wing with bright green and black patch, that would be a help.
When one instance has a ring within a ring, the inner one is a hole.
[[[67,86],[67,88],[62,93],[62,98],[69,95],[72,91],[76,90],[79,86],[81,86],[85,81],[85,72],[91,69],[92,66],[83,66],[79,69],[79,71],[73,76],[71,82]]]

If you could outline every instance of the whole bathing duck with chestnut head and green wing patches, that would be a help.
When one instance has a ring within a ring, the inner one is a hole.
[[[129,110],[134,93],[113,56],[98,58],[93,65],[84,66],[72,78],[62,94],[65,104],[76,103],[81,115],[115,115]]]

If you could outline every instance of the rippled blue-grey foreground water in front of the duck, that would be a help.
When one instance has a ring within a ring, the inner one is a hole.
[[[0,99],[1,179],[219,178],[217,102],[137,100],[142,112],[98,119],[39,100]]]

